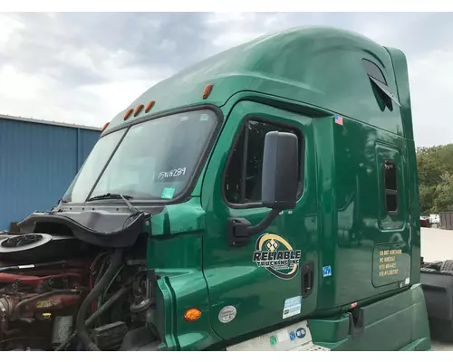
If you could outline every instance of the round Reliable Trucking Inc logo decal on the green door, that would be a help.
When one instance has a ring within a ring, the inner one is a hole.
[[[256,240],[253,262],[277,278],[293,279],[299,269],[302,251],[274,233],[265,233]]]

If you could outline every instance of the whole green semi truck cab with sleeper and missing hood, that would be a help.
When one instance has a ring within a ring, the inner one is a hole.
[[[88,260],[75,308],[31,297],[63,330],[32,348],[430,349],[407,62],[355,33],[275,33],[159,82],[20,226],[39,241],[0,249],[14,273]]]

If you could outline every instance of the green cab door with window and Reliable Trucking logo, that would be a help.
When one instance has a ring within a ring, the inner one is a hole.
[[[238,103],[226,119],[201,195],[206,211],[203,269],[209,319],[221,338],[292,323],[316,307],[319,267],[312,122],[309,117],[250,101]],[[292,132],[299,139],[297,205],[279,214],[249,243],[232,246],[228,219],[243,218],[255,225],[271,211],[261,205],[261,171],[265,134],[275,130]]]

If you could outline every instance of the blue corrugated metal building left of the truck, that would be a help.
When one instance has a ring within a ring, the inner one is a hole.
[[[0,115],[0,231],[56,205],[100,135],[92,127]]]

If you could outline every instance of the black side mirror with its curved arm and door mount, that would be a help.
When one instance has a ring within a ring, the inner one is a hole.
[[[251,236],[263,233],[283,210],[294,209],[299,181],[299,142],[287,132],[265,135],[261,199],[271,212],[256,225],[244,218],[228,219],[228,243],[240,247],[250,243]]]

